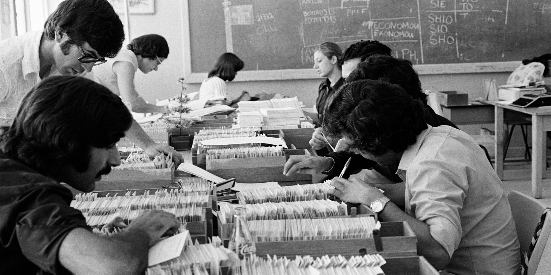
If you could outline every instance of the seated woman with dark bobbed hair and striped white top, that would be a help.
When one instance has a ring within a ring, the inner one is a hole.
[[[243,91],[235,100],[231,100],[228,96],[226,81],[234,80],[237,72],[245,67],[245,63],[233,53],[223,53],[218,57],[214,69],[208,73],[208,78],[203,80],[199,87],[199,99],[207,99],[210,101],[222,101],[225,105],[233,105],[241,100],[244,96],[250,99],[249,93]]]

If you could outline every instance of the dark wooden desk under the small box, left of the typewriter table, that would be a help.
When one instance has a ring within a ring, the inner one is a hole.
[[[494,106],[484,103],[469,103],[467,105],[444,106],[442,117],[456,125],[494,123]]]

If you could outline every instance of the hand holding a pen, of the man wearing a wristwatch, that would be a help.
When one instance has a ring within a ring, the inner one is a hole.
[[[333,178],[331,185],[335,189],[327,190],[327,194],[337,196],[339,199],[345,202],[352,202],[353,204],[371,205],[371,202],[385,197],[381,191],[375,187],[365,184],[359,179],[347,180],[343,178]]]

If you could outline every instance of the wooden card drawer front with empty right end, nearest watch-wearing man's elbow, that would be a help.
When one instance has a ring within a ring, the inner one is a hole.
[[[256,243],[257,255],[358,255],[360,249],[367,254],[380,254],[385,257],[417,256],[417,238],[405,222],[381,222],[382,251],[375,248],[374,238],[268,241]]]

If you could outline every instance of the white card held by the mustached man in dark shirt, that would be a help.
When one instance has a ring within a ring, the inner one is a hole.
[[[188,230],[159,241],[149,249],[147,266],[154,266],[180,256],[186,241],[191,242]]]

